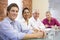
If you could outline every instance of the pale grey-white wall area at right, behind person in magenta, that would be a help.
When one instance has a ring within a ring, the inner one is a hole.
[[[60,21],[60,0],[49,0],[49,10]]]

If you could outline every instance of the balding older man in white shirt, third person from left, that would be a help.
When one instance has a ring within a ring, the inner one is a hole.
[[[43,30],[45,29],[45,26],[43,25],[43,23],[40,21],[39,19],[39,10],[35,10],[32,13],[32,17],[29,19],[29,26],[31,27],[31,29],[35,30]]]

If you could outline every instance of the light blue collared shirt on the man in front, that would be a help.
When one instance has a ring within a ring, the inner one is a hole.
[[[14,23],[14,26],[11,22]],[[10,40],[21,40],[24,38],[25,34],[32,33],[30,30],[24,31],[20,23],[12,21],[8,17],[0,22],[0,32]]]

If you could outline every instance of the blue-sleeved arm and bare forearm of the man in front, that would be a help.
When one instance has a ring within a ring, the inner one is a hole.
[[[29,38],[42,38],[43,37],[42,32],[33,33],[33,34],[22,33],[22,32],[18,32],[17,30],[13,29],[7,24],[0,25],[0,31],[4,33],[10,39],[14,39],[14,38],[29,39]]]

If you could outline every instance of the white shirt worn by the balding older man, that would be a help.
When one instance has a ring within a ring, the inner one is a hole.
[[[31,27],[31,29],[33,28],[38,29],[38,30],[45,29],[45,26],[40,21],[40,19],[38,18],[37,20],[35,20],[34,17],[31,17],[29,19],[29,26]]]

